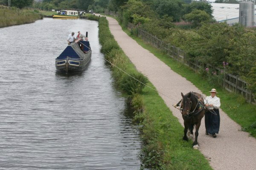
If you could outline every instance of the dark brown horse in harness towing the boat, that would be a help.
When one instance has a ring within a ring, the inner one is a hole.
[[[201,94],[189,92],[185,95],[181,93],[182,100],[179,102],[180,112],[184,120],[184,136],[183,140],[188,141],[187,131],[193,135],[193,128],[195,125],[195,141],[193,147],[198,147],[198,130],[201,125],[201,119],[204,117],[204,100]],[[179,104],[178,103],[178,104]]]

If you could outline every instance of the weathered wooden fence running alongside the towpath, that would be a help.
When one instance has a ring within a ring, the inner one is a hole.
[[[108,11],[108,15],[111,15],[111,12]],[[116,16],[113,15],[113,16]],[[129,30],[137,28],[133,24],[129,23],[128,27]],[[223,85],[227,91],[234,92],[236,94],[241,94],[252,104],[256,104],[255,96],[253,96],[252,92],[248,90],[248,84],[240,79],[238,76],[234,76],[232,74],[226,73],[224,69],[214,68],[211,65],[201,63],[197,60],[191,60],[189,57],[186,57],[185,51],[177,48],[169,43],[165,43],[162,40],[159,40],[156,36],[153,36],[146,31],[143,31],[141,28],[138,29],[138,37],[140,37],[143,41],[147,42],[148,44],[152,45],[155,48],[158,48],[168,54],[169,57],[177,60],[178,62],[187,65],[188,67],[192,68],[195,72],[198,72],[199,69],[206,69],[211,68],[213,70],[213,74],[218,79],[218,83]]]

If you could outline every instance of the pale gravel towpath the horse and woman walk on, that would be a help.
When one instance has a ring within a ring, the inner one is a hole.
[[[111,33],[119,46],[137,70],[148,77],[157,91],[176,101],[181,99],[180,92],[186,94],[189,91],[194,91],[202,94],[195,85],[172,71],[160,59],[138,45],[135,40],[122,31],[116,20],[111,17],[107,17],[107,19]],[[183,125],[180,111],[172,107],[176,102],[161,94],[160,96]],[[250,137],[248,133],[240,131],[241,126],[230,119],[221,109],[220,115],[221,126],[217,138],[205,135],[204,118],[202,119],[198,136],[199,150],[209,159],[210,165],[215,170],[256,170],[256,139]]]

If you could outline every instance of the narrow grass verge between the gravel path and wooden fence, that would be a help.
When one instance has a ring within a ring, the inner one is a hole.
[[[129,31],[127,28],[123,28],[123,30],[131,38],[136,40],[138,44],[140,44],[143,48],[147,49],[156,57],[158,57],[161,61],[166,63],[166,65],[168,65],[173,71],[192,82],[204,94],[209,95],[209,90],[212,88],[216,88],[218,91],[218,97],[220,97],[221,99],[221,109],[225,113],[227,113],[227,115],[230,116],[231,119],[241,125],[241,130],[247,131],[248,133],[250,133],[250,135],[256,137],[255,105],[247,103],[241,95],[230,93],[224,90],[220,85],[213,85],[207,79],[202,78],[201,75],[196,74],[191,68],[181,64],[180,62],[177,62],[175,59],[172,59],[163,51],[154,48],[153,46],[141,40],[139,37],[131,34],[131,31]],[[236,134],[234,134],[234,136],[236,136]]]

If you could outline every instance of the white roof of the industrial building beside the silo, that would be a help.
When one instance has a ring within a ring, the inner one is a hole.
[[[212,16],[216,21],[230,20],[239,18],[239,4],[231,3],[211,3]]]

